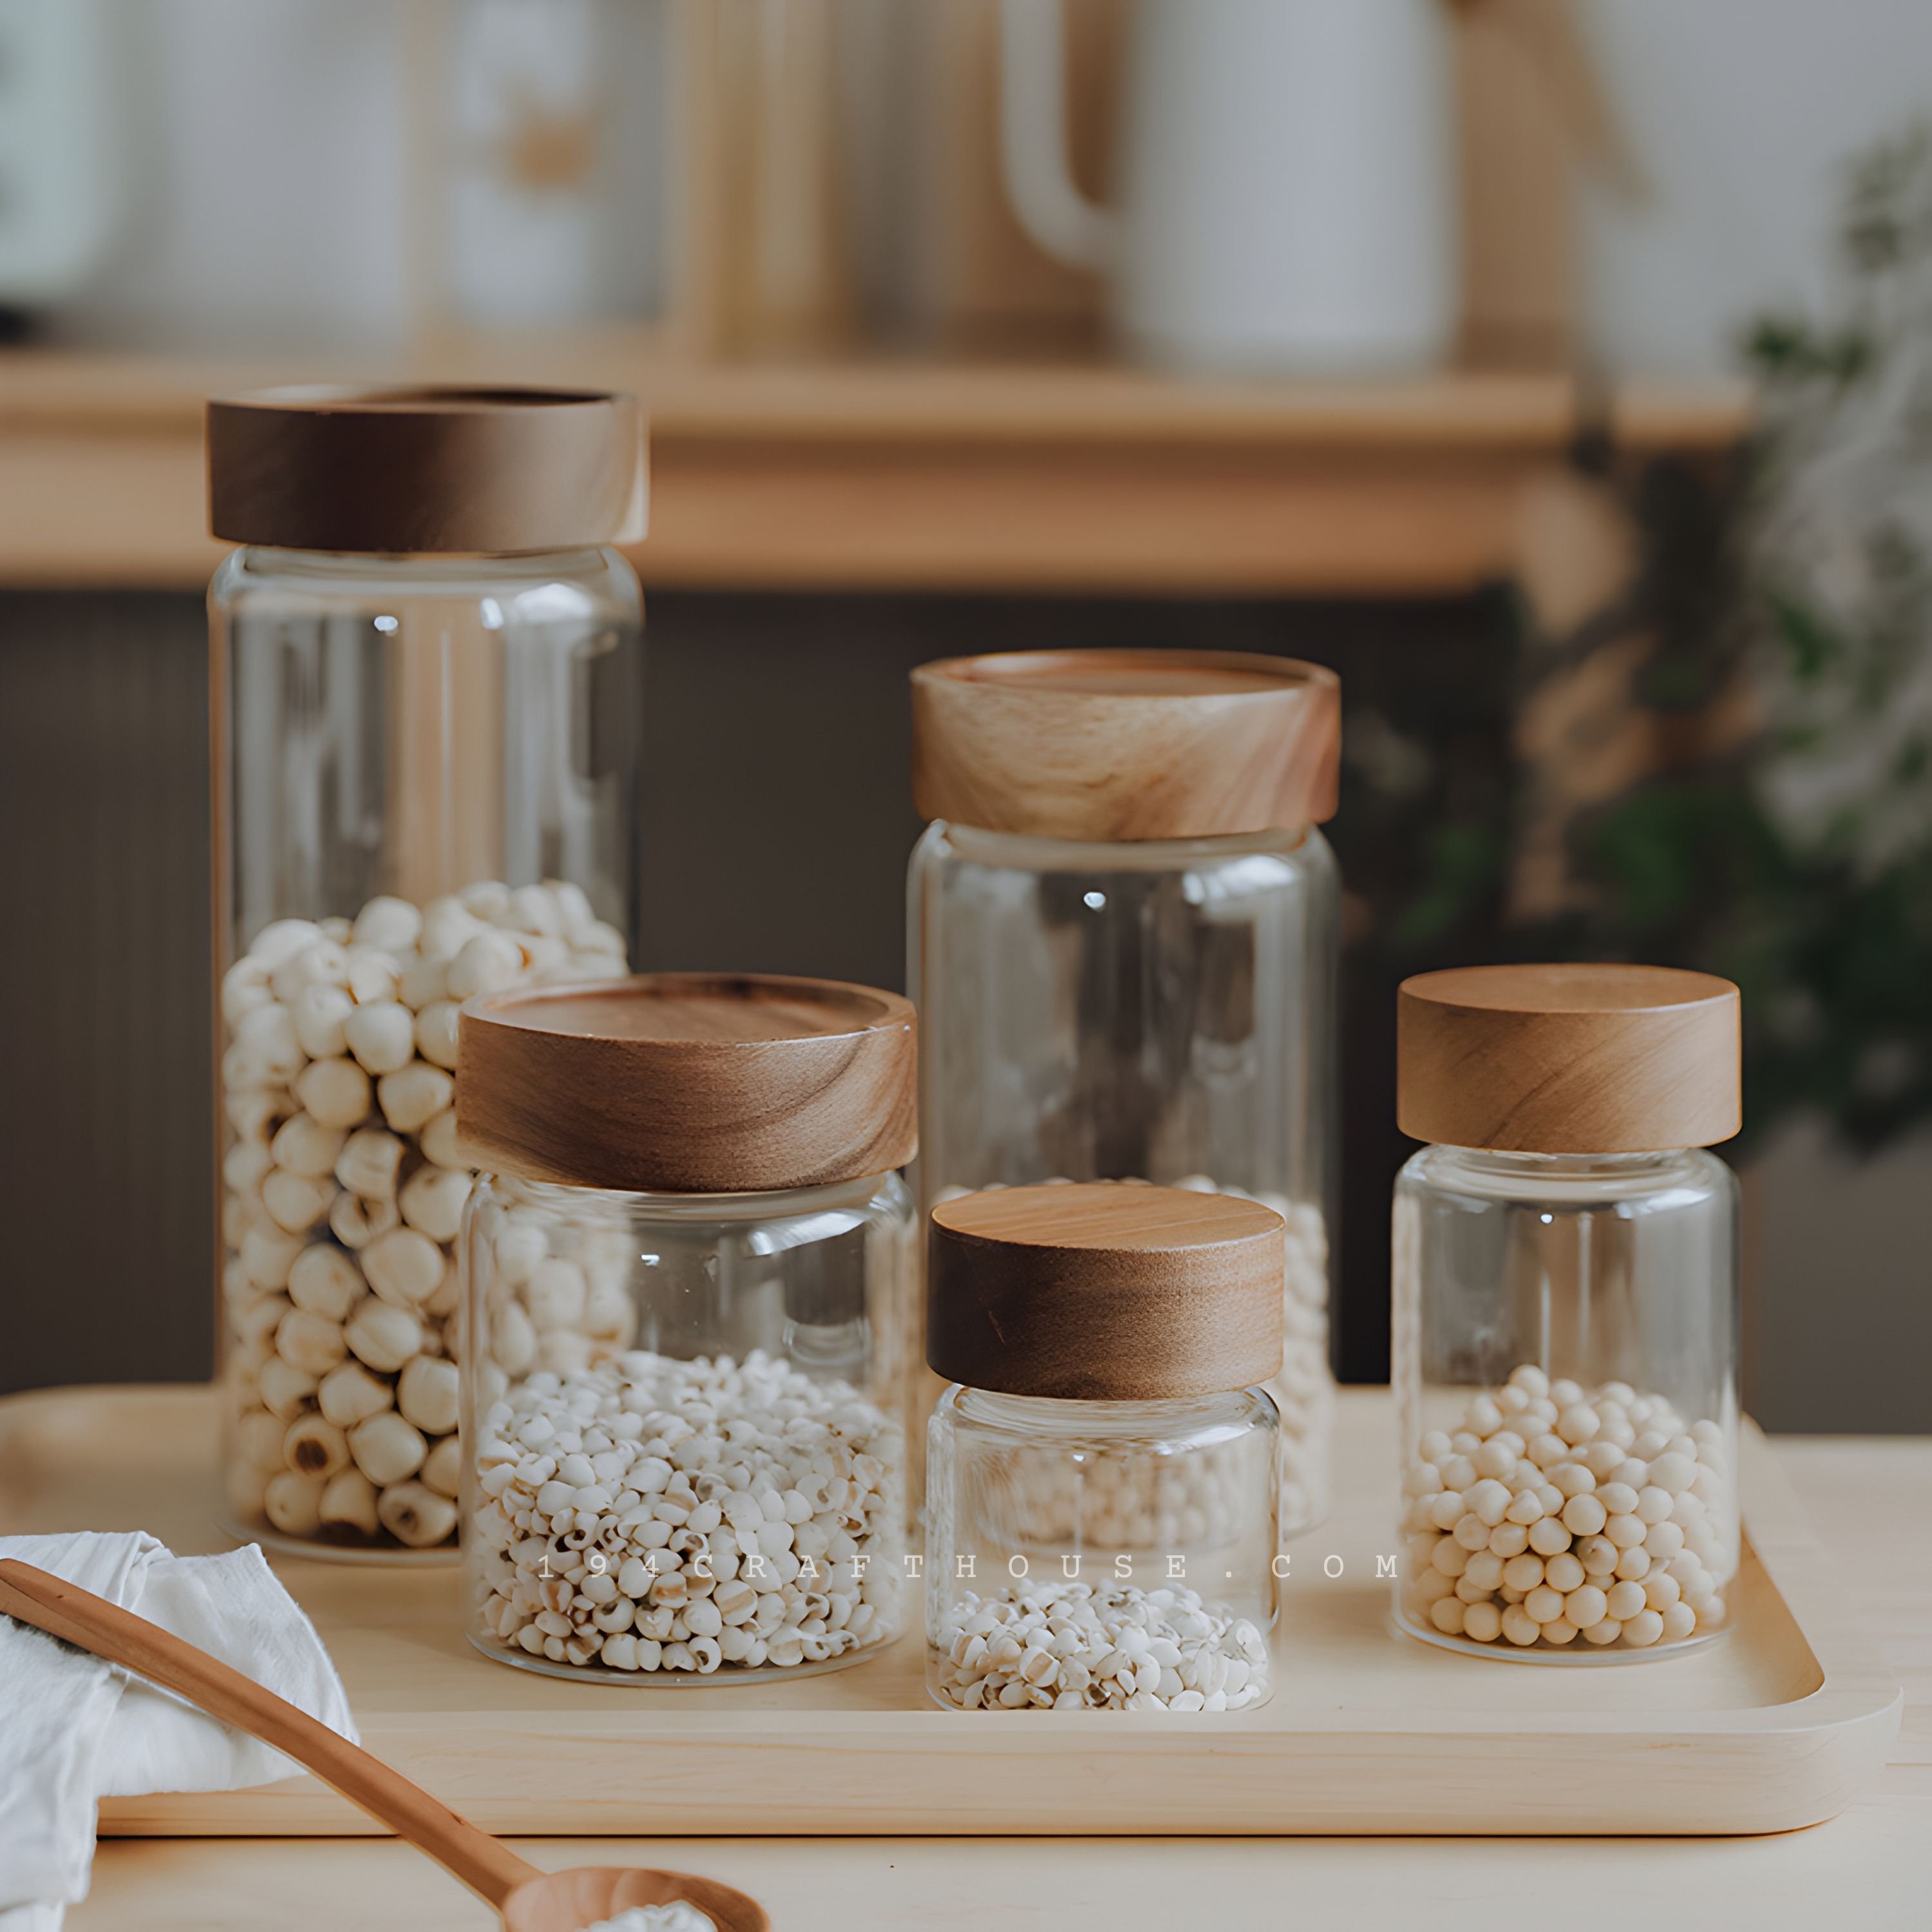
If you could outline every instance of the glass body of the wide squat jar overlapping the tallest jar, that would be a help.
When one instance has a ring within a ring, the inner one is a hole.
[[[896,1175],[717,1196],[485,1177],[464,1269],[477,1650],[680,1685],[837,1669],[898,1634]]]

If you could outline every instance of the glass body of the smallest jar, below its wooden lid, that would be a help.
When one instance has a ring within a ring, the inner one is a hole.
[[[1264,1702],[1279,1463],[1264,1389],[1072,1403],[952,1383],[927,1441],[933,1700],[1182,1712]]]

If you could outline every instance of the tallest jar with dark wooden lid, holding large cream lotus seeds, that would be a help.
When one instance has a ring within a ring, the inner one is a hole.
[[[209,406],[238,1534],[454,1553],[456,1009],[624,970],[641,460],[624,396]]]

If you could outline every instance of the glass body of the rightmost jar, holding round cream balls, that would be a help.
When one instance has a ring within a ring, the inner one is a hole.
[[[1424,1148],[1395,1186],[1397,1621],[1540,1662],[1719,1634],[1737,1180],[1692,1148]]]

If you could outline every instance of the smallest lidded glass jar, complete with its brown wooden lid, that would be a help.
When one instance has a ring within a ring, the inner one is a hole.
[[[927,1690],[1231,1712],[1271,1689],[1283,1221],[1134,1184],[931,1213]]]

